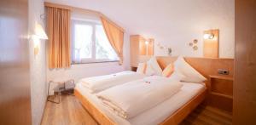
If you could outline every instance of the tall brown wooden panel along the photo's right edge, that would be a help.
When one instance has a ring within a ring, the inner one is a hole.
[[[256,124],[256,0],[236,0],[234,125]]]

